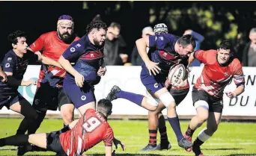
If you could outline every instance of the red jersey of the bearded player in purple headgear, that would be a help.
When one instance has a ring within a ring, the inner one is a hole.
[[[73,41],[76,40],[79,40],[79,37],[76,37]],[[30,48],[33,52],[40,51],[43,53],[43,56],[58,61],[70,44],[64,43],[59,39],[57,31],[52,31],[42,34],[36,41],[34,41],[34,43],[31,44]],[[61,87],[61,82],[64,79],[65,73],[66,71],[64,69],[57,66],[47,66],[43,64],[43,66],[41,66],[37,87],[40,87],[40,83],[46,82],[49,82],[52,87]],[[48,75],[46,76],[46,74]]]

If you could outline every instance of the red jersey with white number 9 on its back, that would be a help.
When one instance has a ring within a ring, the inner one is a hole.
[[[97,143],[112,146],[114,134],[109,123],[97,111],[86,110],[75,127],[60,135],[61,146],[68,156],[81,155]]]

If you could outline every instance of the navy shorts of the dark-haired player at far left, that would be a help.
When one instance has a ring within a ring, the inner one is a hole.
[[[7,107],[7,109],[10,109],[10,106],[15,104],[16,102],[20,102],[23,99],[25,99],[20,93],[15,93],[9,97],[0,99],[0,110],[2,107]]]

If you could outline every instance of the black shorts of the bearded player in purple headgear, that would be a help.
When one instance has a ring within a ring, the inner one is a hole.
[[[61,110],[63,104],[72,104],[63,87],[41,84],[34,95],[33,107],[36,110]]]

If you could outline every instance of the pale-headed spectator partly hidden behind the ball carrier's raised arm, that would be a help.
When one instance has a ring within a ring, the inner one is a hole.
[[[147,37],[150,35],[154,35],[153,28],[151,28],[151,27],[143,28],[141,37],[144,38],[144,37]],[[147,47],[147,52],[148,52],[148,50],[149,50],[149,48]],[[138,54],[138,49],[137,49],[136,45],[132,49],[131,61],[132,61],[132,66],[141,66],[141,63],[143,63],[141,56]]]

